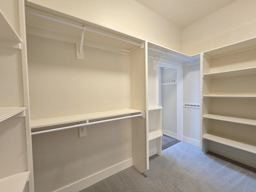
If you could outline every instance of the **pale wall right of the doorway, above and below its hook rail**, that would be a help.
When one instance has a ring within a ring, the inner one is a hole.
[[[200,64],[183,67],[183,102],[200,104]],[[200,109],[183,107],[182,140],[200,145]]]

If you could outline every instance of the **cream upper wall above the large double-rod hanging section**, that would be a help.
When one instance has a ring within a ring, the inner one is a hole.
[[[181,51],[181,28],[134,0],[28,1]]]

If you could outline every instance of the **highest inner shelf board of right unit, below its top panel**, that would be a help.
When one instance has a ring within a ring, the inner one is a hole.
[[[248,75],[256,74],[256,67],[243,68],[237,70],[228,70],[222,72],[206,73],[203,74],[204,78],[220,78],[220,77],[229,77],[229,76],[238,76],[238,75]]]

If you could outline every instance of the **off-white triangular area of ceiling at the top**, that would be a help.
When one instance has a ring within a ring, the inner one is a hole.
[[[135,0],[180,27],[186,27],[236,0]]]

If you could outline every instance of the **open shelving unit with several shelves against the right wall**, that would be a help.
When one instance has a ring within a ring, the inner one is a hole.
[[[235,160],[254,167],[255,47],[256,38],[252,38],[201,54],[200,145],[204,152],[214,150],[218,153],[219,150],[222,155],[218,144],[230,146],[230,152],[240,155]],[[250,161],[246,160],[248,156]],[[231,158],[228,155],[227,157]]]

